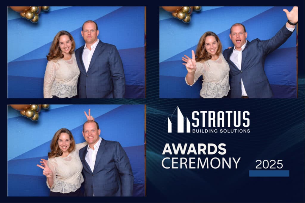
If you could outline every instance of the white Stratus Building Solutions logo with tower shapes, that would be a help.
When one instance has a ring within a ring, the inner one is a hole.
[[[249,111],[193,111],[192,118],[184,117],[177,106],[167,117],[167,132],[172,133],[172,117],[177,110],[178,133],[249,133]],[[166,122],[166,121],[165,121]],[[165,123],[164,122],[164,123]],[[186,122],[186,123],[185,123]],[[185,130],[186,126],[186,130]]]

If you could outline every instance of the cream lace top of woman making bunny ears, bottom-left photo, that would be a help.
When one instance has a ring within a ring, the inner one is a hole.
[[[84,182],[83,175],[81,174],[83,165],[78,151],[87,144],[87,142],[76,144],[75,150],[66,157],[48,159],[47,164],[53,172],[54,183],[50,187],[47,180],[47,186],[52,192],[69,193],[81,187],[81,183]]]

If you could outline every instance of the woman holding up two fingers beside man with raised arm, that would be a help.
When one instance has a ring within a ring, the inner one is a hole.
[[[222,55],[222,45],[219,37],[208,31],[204,33],[196,48],[196,55],[192,50],[192,58],[182,57],[188,73],[186,84],[192,86],[198,78],[203,76],[200,96],[203,98],[223,98],[228,95],[229,65]]]

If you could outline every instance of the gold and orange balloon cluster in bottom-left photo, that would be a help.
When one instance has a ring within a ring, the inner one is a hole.
[[[38,121],[41,108],[48,109],[50,107],[49,104],[10,104],[10,106],[32,121]]]

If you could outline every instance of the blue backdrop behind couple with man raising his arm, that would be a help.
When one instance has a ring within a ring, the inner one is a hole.
[[[202,7],[200,12],[192,12],[190,23],[183,23],[160,8],[160,98],[200,98],[202,77],[193,86],[188,86],[185,83],[187,71],[181,58],[184,54],[192,55],[191,50],[196,50],[203,33],[216,33],[223,50],[234,46],[229,38],[234,23],[242,23],[246,27],[247,40],[267,40],[287,22],[283,9],[290,11],[292,7]],[[297,97],[296,31],[267,56],[265,72],[274,98]]]

